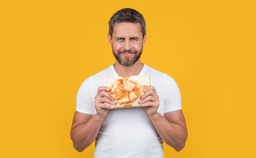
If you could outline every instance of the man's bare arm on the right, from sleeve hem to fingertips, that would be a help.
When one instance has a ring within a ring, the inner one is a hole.
[[[187,140],[187,127],[182,110],[164,113],[164,117],[157,112],[159,107],[159,96],[156,94],[154,86],[145,88],[141,96],[141,105],[146,110],[154,128],[166,144],[180,151],[185,146]]]

